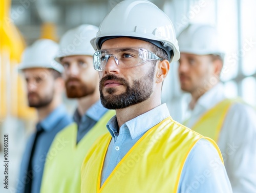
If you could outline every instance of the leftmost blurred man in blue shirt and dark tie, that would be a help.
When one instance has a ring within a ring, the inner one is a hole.
[[[26,79],[28,103],[37,111],[36,132],[29,138],[20,167],[17,191],[40,192],[46,154],[55,135],[72,122],[62,102],[63,67],[54,61],[58,44],[40,39],[23,53],[19,70]]]

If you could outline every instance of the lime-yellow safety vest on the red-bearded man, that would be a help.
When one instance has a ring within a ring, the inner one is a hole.
[[[59,132],[47,154],[41,193],[78,193],[81,187],[81,164],[96,139],[107,133],[106,123],[115,111],[106,112],[91,130],[76,143],[77,124],[73,123]]]

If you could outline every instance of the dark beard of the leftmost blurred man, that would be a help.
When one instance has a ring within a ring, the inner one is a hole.
[[[35,95],[37,97],[37,100],[29,99],[29,96],[28,96],[29,106],[36,109],[40,109],[48,106],[52,102],[54,91],[51,92],[51,94],[45,95],[43,97],[40,97],[37,93],[29,93],[28,95],[31,95],[31,94]]]

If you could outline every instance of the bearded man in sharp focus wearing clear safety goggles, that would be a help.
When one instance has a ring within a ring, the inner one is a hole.
[[[232,192],[218,146],[174,121],[161,104],[169,61],[180,57],[169,18],[153,3],[126,0],[91,40],[109,133],[81,167],[81,192]]]

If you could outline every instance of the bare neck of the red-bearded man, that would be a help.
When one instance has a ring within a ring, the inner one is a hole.
[[[88,109],[99,100],[99,91],[96,90],[92,95],[81,97],[78,99],[77,110],[80,116],[88,111]]]

